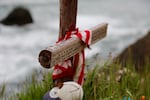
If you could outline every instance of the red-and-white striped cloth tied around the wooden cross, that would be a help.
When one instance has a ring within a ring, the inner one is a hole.
[[[73,31],[66,32],[63,38],[60,38],[56,43],[61,43],[69,38],[78,38],[83,41],[87,47],[91,44],[91,31],[84,30],[79,31],[78,28]],[[84,50],[77,53],[72,58],[60,62],[54,66],[52,78],[53,80],[70,77],[72,80],[76,81],[78,84],[82,85],[84,82],[84,66],[85,66],[85,55]]]

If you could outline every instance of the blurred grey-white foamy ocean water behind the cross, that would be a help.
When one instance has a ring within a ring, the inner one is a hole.
[[[1,0],[0,20],[16,6],[28,8],[34,23],[23,27],[0,24],[0,84],[25,81],[34,69],[44,70],[38,62],[40,50],[55,43],[59,31],[59,0]],[[79,0],[77,27],[89,29],[109,23],[107,37],[86,57],[99,53],[107,59],[150,30],[150,0]],[[88,54],[87,54],[88,52]]]

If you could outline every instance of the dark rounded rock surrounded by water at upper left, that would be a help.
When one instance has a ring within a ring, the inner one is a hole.
[[[16,7],[13,11],[8,14],[0,23],[4,25],[25,25],[33,23],[30,12],[23,7]]]

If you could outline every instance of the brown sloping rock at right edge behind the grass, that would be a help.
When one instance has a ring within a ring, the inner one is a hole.
[[[150,31],[136,43],[127,47],[117,57],[117,61],[123,66],[127,66],[127,63],[131,61],[136,71],[142,72],[144,66],[150,62]]]

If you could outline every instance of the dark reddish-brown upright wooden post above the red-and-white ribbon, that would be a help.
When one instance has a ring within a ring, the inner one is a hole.
[[[60,2],[59,38],[61,38],[65,35],[66,31],[74,30],[76,27],[78,0],[59,0],[59,2]]]

